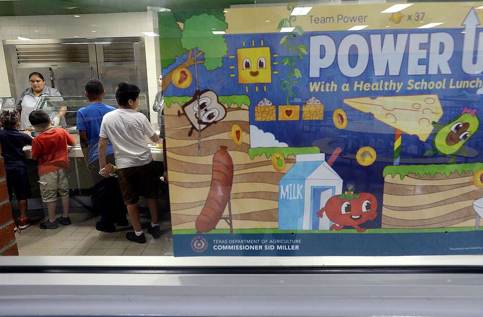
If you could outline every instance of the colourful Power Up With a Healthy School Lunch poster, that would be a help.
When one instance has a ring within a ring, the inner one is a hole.
[[[160,12],[174,255],[483,254],[479,6]]]

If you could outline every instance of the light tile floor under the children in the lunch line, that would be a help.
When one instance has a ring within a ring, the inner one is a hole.
[[[147,242],[138,244],[126,239],[132,227],[117,227],[116,232],[96,230],[100,219],[90,212],[71,213],[72,225],[59,225],[55,230],[42,230],[32,225],[15,233],[19,255],[173,255],[171,222],[161,221],[161,238],[144,230]],[[151,222],[141,217],[143,228]]]

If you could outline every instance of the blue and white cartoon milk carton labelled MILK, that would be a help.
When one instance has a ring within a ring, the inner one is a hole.
[[[342,178],[325,161],[325,154],[300,154],[278,183],[279,230],[329,230],[330,220],[317,212],[327,200],[342,194]]]

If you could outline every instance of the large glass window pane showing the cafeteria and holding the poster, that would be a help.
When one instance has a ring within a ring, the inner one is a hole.
[[[125,3],[0,4],[4,263],[481,260],[483,4]]]

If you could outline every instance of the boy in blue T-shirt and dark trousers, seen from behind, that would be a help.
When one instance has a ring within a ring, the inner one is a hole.
[[[90,79],[85,84],[85,96],[91,102],[87,107],[77,111],[77,129],[82,153],[87,169],[94,181],[94,194],[92,205],[101,215],[101,220],[96,223],[96,229],[104,232],[115,232],[115,223],[118,226],[127,226],[126,207],[124,205],[119,182],[115,177],[104,178],[99,175],[99,132],[102,118],[105,114],[116,108],[102,103],[106,95],[102,82],[98,79]],[[106,160],[116,165],[112,144],[107,146]]]

